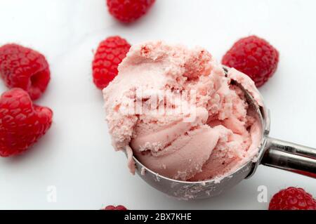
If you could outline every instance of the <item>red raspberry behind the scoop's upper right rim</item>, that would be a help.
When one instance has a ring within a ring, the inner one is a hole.
[[[272,77],[278,62],[279,52],[256,36],[239,39],[222,59],[223,65],[244,72],[254,80],[257,87]]]

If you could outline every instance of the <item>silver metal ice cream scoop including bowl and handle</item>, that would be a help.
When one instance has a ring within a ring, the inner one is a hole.
[[[228,68],[223,67],[223,70],[227,74]],[[136,173],[140,178],[157,190],[177,199],[205,199],[220,195],[245,178],[254,175],[259,164],[316,178],[316,149],[271,138],[269,136],[270,114],[267,107],[264,105],[258,107],[254,98],[242,85],[237,82],[234,84],[244,91],[249,107],[261,121],[262,136],[256,158],[246,162],[233,173],[228,173],[220,178],[190,182],[174,180],[154,173],[141,164],[136,157],[133,157]]]

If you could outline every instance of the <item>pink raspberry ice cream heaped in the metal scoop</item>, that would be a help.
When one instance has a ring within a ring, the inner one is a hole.
[[[232,79],[262,105],[249,77],[234,69],[226,77],[204,48],[132,46],[103,90],[112,145],[126,150],[131,172],[133,155],[162,176],[189,181],[228,175],[254,158],[261,126]]]

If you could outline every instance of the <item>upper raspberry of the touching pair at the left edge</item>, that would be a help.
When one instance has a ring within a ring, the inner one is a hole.
[[[22,88],[38,99],[51,79],[48,62],[41,53],[18,44],[0,47],[0,76],[9,88]]]

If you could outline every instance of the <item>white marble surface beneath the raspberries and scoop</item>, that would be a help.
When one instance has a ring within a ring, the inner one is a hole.
[[[218,60],[234,41],[256,34],[280,53],[274,77],[260,88],[271,110],[271,136],[316,147],[316,1],[157,0],[147,16],[121,25],[105,0],[0,0],[0,45],[41,51],[51,83],[39,105],[53,109],[53,126],[32,150],[0,158],[0,209],[267,209],[257,187],[299,186],[316,196],[316,180],[260,166],[255,176],[212,199],[183,202],[131,176],[114,152],[91,60],[99,41],[119,34],[130,43],[164,39],[204,46]],[[5,91],[0,84],[0,91]],[[47,187],[57,202],[47,202]]]

